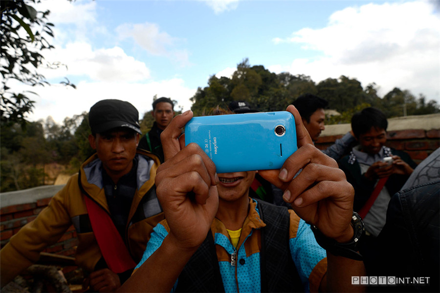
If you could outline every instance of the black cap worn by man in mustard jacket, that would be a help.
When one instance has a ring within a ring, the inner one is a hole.
[[[88,124],[92,133],[103,133],[117,127],[126,127],[142,134],[139,112],[132,104],[117,99],[105,99],[90,108]]]

